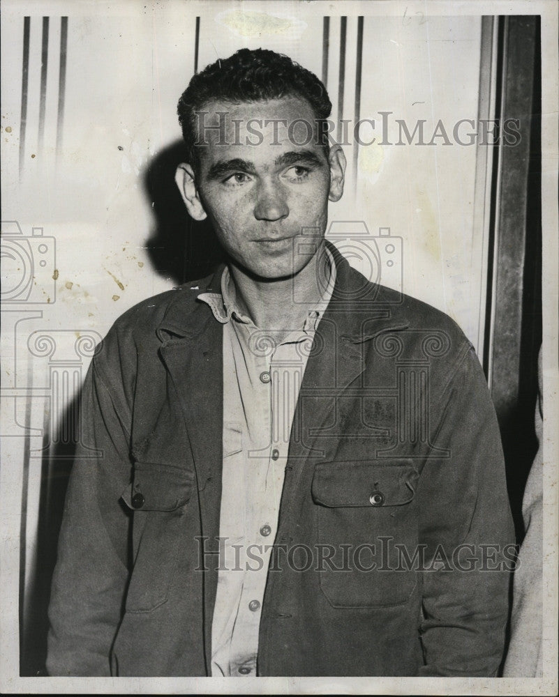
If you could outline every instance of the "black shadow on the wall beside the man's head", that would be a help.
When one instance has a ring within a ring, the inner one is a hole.
[[[144,186],[156,226],[147,240],[155,270],[175,285],[202,278],[223,260],[223,251],[207,220],[196,222],[186,212],[174,183],[177,165],[186,161],[182,140],[158,153],[144,173]]]

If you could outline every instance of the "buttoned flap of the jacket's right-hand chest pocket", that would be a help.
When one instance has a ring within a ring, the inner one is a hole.
[[[311,491],[315,503],[329,508],[401,506],[414,497],[418,477],[411,464],[322,462]]]

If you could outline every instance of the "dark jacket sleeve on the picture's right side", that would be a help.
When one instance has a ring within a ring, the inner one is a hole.
[[[433,407],[433,450],[420,477],[425,545],[419,675],[495,676],[505,642],[514,526],[493,403],[468,346]],[[440,450],[435,450],[440,448]]]

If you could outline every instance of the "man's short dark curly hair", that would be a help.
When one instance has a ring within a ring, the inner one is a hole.
[[[208,102],[260,102],[293,95],[311,105],[322,144],[328,148],[324,125],[332,105],[325,86],[313,72],[302,68],[289,56],[262,48],[242,48],[229,58],[211,63],[194,75],[177,107],[188,161],[198,169],[195,114]]]

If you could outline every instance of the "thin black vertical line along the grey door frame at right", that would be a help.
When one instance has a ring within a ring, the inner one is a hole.
[[[500,123],[501,102],[502,102],[502,71],[503,71],[503,54],[505,50],[505,17],[499,17],[497,36],[497,72],[495,82],[495,125]],[[498,143],[498,139],[495,139]],[[495,266],[495,223],[498,206],[498,176],[500,162],[498,159],[497,144],[491,146],[493,151],[493,165],[491,171],[491,201],[489,204],[489,240],[487,249],[487,292],[485,299],[485,330],[484,330],[484,354],[482,365],[486,378],[489,376],[489,362],[491,355],[491,309],[493,308],[493,273]]]

